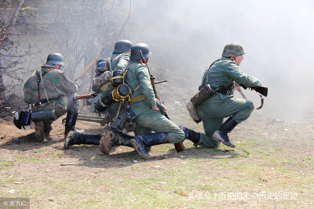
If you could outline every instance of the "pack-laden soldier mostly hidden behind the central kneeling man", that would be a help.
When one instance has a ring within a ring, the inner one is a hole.
[[[107,59],[109,62],[109,67],[106,66],[106,71],[102,72],[100,75],[96,74],[95,78],[93,79],[92,90],[95,92],[99,92],[99,94],[93,100],[92,105],[95,105],[95,103],[99,101],[99,98],[102,95],[108,96],[114,90],[114,87],[111,86],[110,81],[111,72],[115,70],[124,70],[125,66],[127,66],[130,60],[129,53],[132,45],[132,42],[129,40],[120,40],[115,43],[113,53],[111,57]],[[111,122],[112,119],[115,117],[118,104],[118,102],[113,102],[106,108],[106,110],[109,110],[110,112],[110,115],[108,117],[110,117]],[[99,113],[97,110],[95,110],[95,112]],[[117,131],[122,133],[124,132],[124,130],[120,128],[117,128]],[[63,149],[66,150],[69,148],[69,146],[72,146],[74,144],[99,144],[101,137],[101,134],[79,134],[73,132],[66,139]]]

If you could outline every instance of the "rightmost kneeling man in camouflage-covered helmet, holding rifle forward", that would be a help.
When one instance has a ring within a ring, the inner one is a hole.
[[[222,57],[204,72],[201,90],[208,82],[216,93],[196,107],[198,117],[203,121],[205,134],[181,127],[186,138],[198,145],[217,148],[223,144],[235,147],[228,133],[237,124],[245,121],[254,110],[254,103],[245,99],[233,97],[235,82],[244,86],[262,86],[257,78],[247,75],[239,69],[245,54],[243,47],[237,43],[225,45]],[[224,118],[228,118],[223,123]]]

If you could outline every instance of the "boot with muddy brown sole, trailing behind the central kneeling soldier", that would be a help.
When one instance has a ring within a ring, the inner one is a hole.
[[[109,154],[113,144],[133,147],[130,143],[131,138],[134,138],[134,136],[118,131],[105,131],[100,139],[100,151],[103,154]]]

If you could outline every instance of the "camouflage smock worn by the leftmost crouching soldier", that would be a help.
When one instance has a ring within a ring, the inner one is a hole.
[[[69,80],[64,72],[57,70],[56,66],[50,64],[44,64],[41,66],[41,71],[45,71],[49,68],[53,68],[43,76],[43,81],[39,83],[39,92],[41,100],[46,99],[44,86],[49,100],[55,100],[59,96],[68,96],[78,91],[78,84]],[[24,100],[28,104],[34,104],[38,102],[38,88],[37,88],[37,76],[36,71],[30,76],[30,78],[24,84]]]

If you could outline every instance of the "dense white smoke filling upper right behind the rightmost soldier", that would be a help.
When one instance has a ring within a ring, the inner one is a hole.
[[[264,111],[313,113],[314,2],[141,0],[136,7],[144,21],[187,53],[195,69],[189,73],[196,76],[191,97],[206,67],[220,58],[225,44],[236,42],[246,52],[240,70],[268,87]],[[257,93],[244,93],[257,97],[259,105]]]

